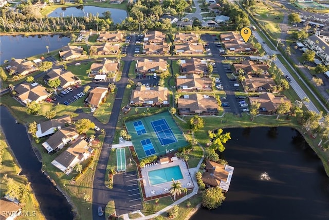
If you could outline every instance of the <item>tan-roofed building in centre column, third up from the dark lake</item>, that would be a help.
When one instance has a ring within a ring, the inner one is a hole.
[[[208,66],[207,61],[197,58],[180,60],[181,74],[205,74]]]

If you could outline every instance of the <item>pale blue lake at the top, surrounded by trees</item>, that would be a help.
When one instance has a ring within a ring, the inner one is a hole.
[[[126,17],[127,12],[122,9],[116,8],[100,8],[96,6],[83,6],[83,7],[68,7],[68,8],[57,8],[48,14],[48,17],[58,17],[58,16],[76,16],[84,17],[87,14],[92,13],[99,16],[103,16],[102,13],[105,11],[111,11],[111,17],[115,24],[121,23]]]

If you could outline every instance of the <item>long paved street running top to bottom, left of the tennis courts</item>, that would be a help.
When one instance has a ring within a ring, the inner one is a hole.
[[[133,37],[131,42],[135,42],[135,39]],[[104,219],[105,215],[98,216],[98,206],[102,206],[103,209],[108,203],[109,200],[114,200],[115,203],[121,203],[122,196],[118,195],[116,190],[109,190],[104,185],[105,180],[105,172],[106,172],[106,165],[109,158],[109,154],[111,152],[111,146],[114,139],[114,134],[116,130],[116,124],[119,118],[119,115],[121,113],[121,103],[123,98],[123,93],[125,86],[127,84],[128,79],[128,73],[130,64],[132,63],[132,60],[134,59],[134,46],[135,43],[132,43],[127,48],[127,56],[122,58],[124,61],[124,66],[122,69],[122,77],[121,80],[116,82],[117,85],[117,95],[113,104],[112,108],[112,114],[109,118],[108,123],[103,126],[106,132],[106,136],[104,139],[104,143],[102,146],[102,150],[100,153],[99,161],[96,167],[95,171],[95,177],[94,177],[94,185],[93,185],[93,219]],[[131,210],[134,210],[134,207],[131,208]],[[116,210],[118,211],[118,210]],[[118,211],[120,212],[120,211]]]

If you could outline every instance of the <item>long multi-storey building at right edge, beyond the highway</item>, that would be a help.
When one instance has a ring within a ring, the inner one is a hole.
[[[329,45],[319,36],[309,36],[304,43],[321,58],[324,65],[329,65]]]

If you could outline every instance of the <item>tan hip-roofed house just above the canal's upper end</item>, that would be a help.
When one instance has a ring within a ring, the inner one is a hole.
[[[35,101],[40,103],[45,100],[50,93],[47,93],[46,88],[38,83],[22,83],[15,87],[17,100],[21,101],[22,104]]]

